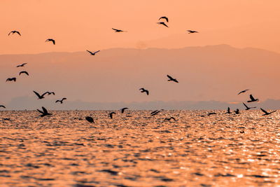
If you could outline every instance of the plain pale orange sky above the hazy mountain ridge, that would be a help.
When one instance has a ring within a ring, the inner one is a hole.
[[[221,43],[280,53],[279,9],[279,0],[1,0],[0,54]],[[164,15],[170,28],[155,24]],[[7,36],[14,29],[22,36]]]

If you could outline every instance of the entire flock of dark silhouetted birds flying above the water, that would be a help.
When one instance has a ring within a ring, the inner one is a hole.
[[[168,25],[167,25],[167,23],[169,22],[169,19],[168,19],[166,16],[160,17],[160,18],[158,19],[158,21],[159,21],[159,22],[157,22],[158,25],[162,25],[162,26],[164,26],[164,27],[169,28]],[[112,29],[113,29],[113,31],[115,31],[115,32],[127,32],[127,31],[124,31],[124,30],[122,30],[122,29],[114,29],[114,28],[112,28]],[[188,32],[188,34],[199,33],[199,32],[197,32],[197,31],[195,31],[195,30],[187,30],[187,32]],[[19,36],[22,36],[22,35],[20,34],[20,32],[18,32],[18,31],[16,31],[16,30],[11,31],[11,32],[8,34],[8,36],[10,36],[10,34],[18,34]],[[51,42],[53,45],[55,45],[55,39],[47,39],[47,40],[45,40],[45,42]],[[97,53],[100,52],[100,50],[97,50],[97,51],[94,51],[94,52],[92,52],[92,51],[90,51],[90,50],[86,50],[86,51],[87,51],[88,53],[90,53],[90,55],[96,55]],[[25,67],[26,64],[27,64],[27,63],[23,63],[23,64],[18,65],[17,67]],[[26,74],[27,76],[29,76],[29,74],[28,74],[27,71],[20,71],[19,75],[21,75],[21,74]],[[177,79],[176,79],[176,78],[173,78],[172,76],[167,75],[167,78],[169,78],[167,81],[173,81],[174,83],[179,83],[179,81],[177,81]],[[6,82],[8,82],[8,81],[14,81],[14,82],[15,82],[16,80],[17,80],[16,77],[7,78],[7,79],[6,79]],[[146,93],[146,95],[149,95],[149,90],[146,90],[145,88],[140,88],[139,90],[140,90],[141,92]],[[247,91],[248,91],[248,89],[247,89],[247,90],[242,90],[241,92],[238,93],[238,95],[240,95],[241,93],[247,92]],[[55,95],[55,92],[44,92],[44,93],[41,94],[41,95],[40,95],[38,92],[36,92],[36,91],[33,91],[33,92],[34,92],[34,94],[38,97],[38,99],[44,99],[44,98],[45,98],[45,97],[44,97],[45,95]],[[60,104],[62,104],[64,100],[66,100],[66,97],[64,97],[64,98],[62,98],[62,99],[60,99],[60,100],[59,100],[59,99],[56,100],[55,103],[59,102]],[[258,101],[259,101],[259,99],[255,99],[255,97],[253,97],[253,95],[250,95],[250,100],[248,100],[247,102],[248,102],[248,103],[251,103],[251,102],[258,102]],[[246,107],[245,110],[250,110],[250,109],[255,109],[255,108],[256,108],[256,107],[247,106],[244,102],[243,102],[243,104],[244,104],[244,106]],[[0,108],[1,108],[1,107],[6,109],[6,106],[0,105]],[[120,112],[121,112],[121,113],[124,113],[126,109],[128,109],[128,108],[125,107],[125,108],[123,108],[123,109],[120,109]],[[269,114],[271,114],[271,113],[276,112],[276,111],[267,112],[267,111],[265,111],[265,110],[262,109],[262,108],[260,108],[260,110],[264,113],[262,116],[267,116],[267,115],[269,115]],[[41,113],[41,115],[40,115],[41,117],[52,115],[52,113],[49,113],[48,110],[45,109],[45,107],[43,107],[43,106],[42,106],[42,110],[37,109],[37,111],[38,111],[39,113]],[[163,109],[152,111],[152,112],[151,112],[151,116],[157,115],[158,113],[160,113],[160,111],[163,111]],[[226,113],[228,113],[228,114],[233,113],[233,112],[230,111],[230,107],[228,107],[228,110],[226,111]],[[240,113],[239,109],[236,109],[236,110],[234,111],[234,113],[235,113],[235,114],[239,114],[239,113]],[[111,113],[109,113],[109,118],[113,118],[113,115],[115,115],[115,114],[116,114],[116,112],[111,112]],[[211,116],[211,115],[214,115],[214,114],[217,114],[217,113],[215,113],[215,112],[209,112],[206,116]],[[204,117],[204,115],[202,115],[202,117]],[[85,120],[87,120],[89,123],[94,123],[94,119],[93,119],[92,117],[90,117],[90,116],[86,116],[86,117],[85,117]],[[177,121],[174,117],[165,118],[164,121],[166,121],[166,120],[168,120],[168,121],[171,121],[171,120]]]

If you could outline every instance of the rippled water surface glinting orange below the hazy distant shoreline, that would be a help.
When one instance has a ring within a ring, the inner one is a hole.
[[[0,185],[280,186],[279,111],[207,112],[1,111]]]

